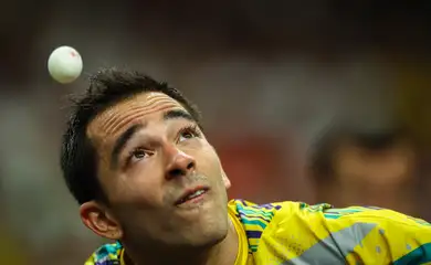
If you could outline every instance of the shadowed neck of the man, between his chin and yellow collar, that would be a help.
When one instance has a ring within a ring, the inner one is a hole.
[[[188,265],[231,265],[234,263],[239,250],[239,239],[236,230],[229,219],[229,230],[227,236],[216,245],[202,247],[134,247],[124,244],[126,265],[165,265],[187,262]]]

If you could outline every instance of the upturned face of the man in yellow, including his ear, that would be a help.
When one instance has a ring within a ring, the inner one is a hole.
[[[90,202],[81,214],[97,234],[178,246],[224,239],[229,180],[178,102],[161,93],[139,94],[99,114],[87,136],[97,150],[108,205]]]

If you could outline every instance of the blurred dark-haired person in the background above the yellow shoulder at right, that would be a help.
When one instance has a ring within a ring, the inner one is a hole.
[[[418,168],[414,140],[401,127],[330,126],[309,159],[317,201],[376,205],[414,215],[419,214]]]

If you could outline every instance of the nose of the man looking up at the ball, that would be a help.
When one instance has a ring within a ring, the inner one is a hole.
[[[196,169],[195,158],[176,147],[169,148],[168,158],[166,170],[167,180],[187,176]]]

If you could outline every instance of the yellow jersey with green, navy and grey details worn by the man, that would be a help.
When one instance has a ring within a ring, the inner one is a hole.
[[[374,206],[229,202],[239,236],[235,265],[431,264],[431,224]],[[120,243],[85,265],[125,265]]]

